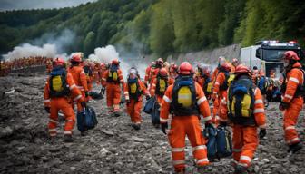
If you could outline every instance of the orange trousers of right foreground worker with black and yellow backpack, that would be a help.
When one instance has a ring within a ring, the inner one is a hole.
[[[259,144],[255,126],[233,126],[233,159],[237,164],[250,167],[254,152]]]

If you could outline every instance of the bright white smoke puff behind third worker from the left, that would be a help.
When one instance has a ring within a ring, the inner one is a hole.
[[[120,52],[121,53],[121,52]],[[113,59],[119,59],[123,76],[127,77],[127,72],[131,67],[137,68],[140,76],[143,78],[145,74],[146,64],[142,63],[139,57],[130,53],[118,53],[113,45],[95,48],[94,53],[89,55],[89,60],[98,63],[111,63]]]

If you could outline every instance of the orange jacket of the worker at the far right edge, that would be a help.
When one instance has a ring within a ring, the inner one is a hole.
[[[293,68],[288,73],[286,73],[286,91],[282,95],[282,102],[290,102],[293,99],[298,86],[302,85],[304,81],[303,73],[300,70],[301,64],[295,63],[292,67]]]

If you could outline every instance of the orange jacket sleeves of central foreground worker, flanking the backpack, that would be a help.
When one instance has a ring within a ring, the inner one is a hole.
[[[201,86],[197,82],[195,83],[195,89],[196,89],[197,104],[199,106],[200,114],[203,116],[203,121],[211,122],[212,117],[211,117],[209,102],[204,96],[204,92],[202,91]],[[167,88],[163,96],[161,109],[160,109],[161,123],[165,123],[169,119],[170,105],[172,102],[172,90],[173,90],[173,84]]]

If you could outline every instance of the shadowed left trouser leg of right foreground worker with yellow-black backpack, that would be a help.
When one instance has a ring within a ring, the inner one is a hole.
[[[241,148],[242,148],[242,131],[241,126],[233,126],[233,159],[239,161],[241,157]]]

